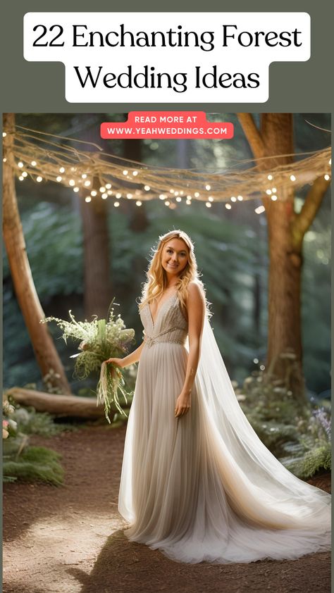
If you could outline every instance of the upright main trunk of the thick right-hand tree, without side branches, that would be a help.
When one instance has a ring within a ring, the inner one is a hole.
[[[261,116],[261,138],[265,146],[265,156],[287,155],[279,159],[267,158],[262,161],[261,168],[270,170],[278,164],[292,162],[294,146],[291,113],[264,113]],[[275,185],[275,179],[271,184]],[[284,377],[286,361],[280,358],[280,355],[287,351],[294,353],[299,373],[295,373],[293,385],[290,387],[302,392],[302,244],[292,244],[294,191],[292,188],[285,190],[283,195],[282,189],[278,187],[277,192],[278,201],[273,202],[269,197],[265,199],[270,253],[267,365],[276,363],[275,372]]]

